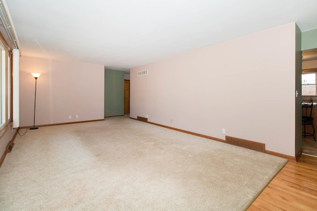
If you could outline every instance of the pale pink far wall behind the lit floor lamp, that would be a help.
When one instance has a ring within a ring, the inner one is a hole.
[[[104,66],[21,56],[20,127],[33,126],[37,72],[35,125],[104,119]]]

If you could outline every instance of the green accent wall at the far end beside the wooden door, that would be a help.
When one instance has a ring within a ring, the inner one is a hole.
[[[124,115],[124,72],[105,69],[105,117]]]

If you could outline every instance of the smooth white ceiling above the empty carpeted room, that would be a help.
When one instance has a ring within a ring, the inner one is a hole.
[[[317,0],[6,0],[22,55],[128,71],[297,22],[317,29]]]

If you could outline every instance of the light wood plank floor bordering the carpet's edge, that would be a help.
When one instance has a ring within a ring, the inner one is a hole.
[[[317,211],[317,157],[289,161],[248,211]]]

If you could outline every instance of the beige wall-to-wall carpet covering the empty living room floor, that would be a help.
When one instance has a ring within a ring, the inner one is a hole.
[[[40,127],[14,143],[0,168],[5,211],[240,211],[287,162],[128,117]]]

